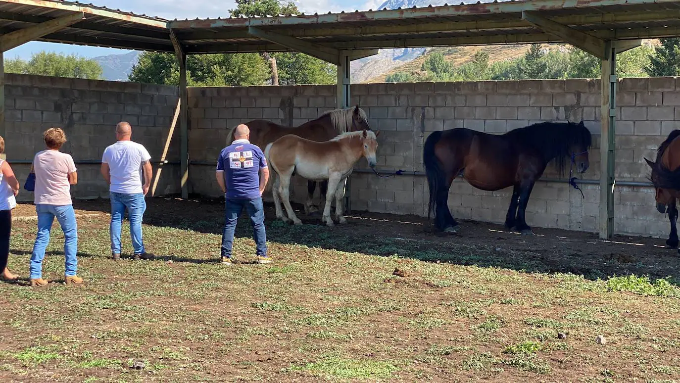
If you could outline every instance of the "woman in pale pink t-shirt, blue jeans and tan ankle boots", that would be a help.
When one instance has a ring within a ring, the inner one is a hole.
[[[54,217],[64,232],[64,255],[66,257],[66,284],[82,283],[76,276],[78,259],[78,224],[71,202],[71,185],[78,183],[78,173],[71,155],[59,151],[66,142],[61,128],[50,128],[43,133],[46,150],[35,154],[35,211],[38,214],[38,231],[31,255],[31,286],[48,284],[42,278],[42,260],[50,243],[50,229]]]

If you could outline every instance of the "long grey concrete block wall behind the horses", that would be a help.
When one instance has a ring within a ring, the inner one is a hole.
[[[432,131],[465,127],[493,134],[534,122],[581,121],[593,133],[590,169],[579,178],[598,180],[600,167],[599,80],[523,80],[483,82],[423,82],[353,84],[352,105],[359,104],[379,129],[380,169],[423,171],[422,146]],[[190,158],[208,166],[192,166],[195,193],[219,195],[214,184],[214,161],[226,141],[226,131],[239,122],[264,118],[297,126],[335,108],[335,86],[256,86],[192,88],[189,92]],[[617,93],[617,180],[647,181],[643,160],[653,159],[670,131],[680,129],[678,78],[619,80]],[[367,169],[360,160],[357,169]],[[568,169],[564,178],[568,176]],[[557,178],[549,167],[545,178]],[[534,227],[596,231],[597,185],[578,190],[562,183],[540,182],[534,188],[527,221]],[[294,185],[294,198],[303,201],[305,182]],[[318,193],[318,192],[317,192]],[[426,178],[378,178],[354,173],[352,207],[371,212],[427,214]],[[502,223],[511,190],[486,192],[456,180],[449,206],[456,218]],[[653,189],[617,186],[617,233],[663,237],[668,221],[654,207]]]

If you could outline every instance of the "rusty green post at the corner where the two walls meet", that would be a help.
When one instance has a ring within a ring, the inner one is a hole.
[[[186,88],[186,52],[180,41],[170,30],[170,39],[175,47],[177,63],[180,64],[180,167],[182,172],[182,198],[189,197],[189,131],[188,131],[188,93]]]

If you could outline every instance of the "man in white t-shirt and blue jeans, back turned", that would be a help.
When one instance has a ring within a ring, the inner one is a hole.
[[[141,238],[141,221],[146,211],[144,196],[151,186],[152,169],[149,152],[141,144],[131,141],[132,127],[128,122],[116,125],[116,144],[104,150],[101,174],[110,185],[111,193],[111,252],[114,261],[120,259],[120,227],[125,209],[130,220],[130,236],[135,259],[152,259]],[[142,183],[143,171],[143,183]]]

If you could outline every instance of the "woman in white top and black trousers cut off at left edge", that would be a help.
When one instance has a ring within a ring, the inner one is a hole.
[[[5,139],[0,137],[0,154],[5,152]],[[7,268],[10,257],[10,234],[12,233],[12,209],[16,207],[19,181],[7,161],[0,159],[0,270],[5,280],[18,278]]]

